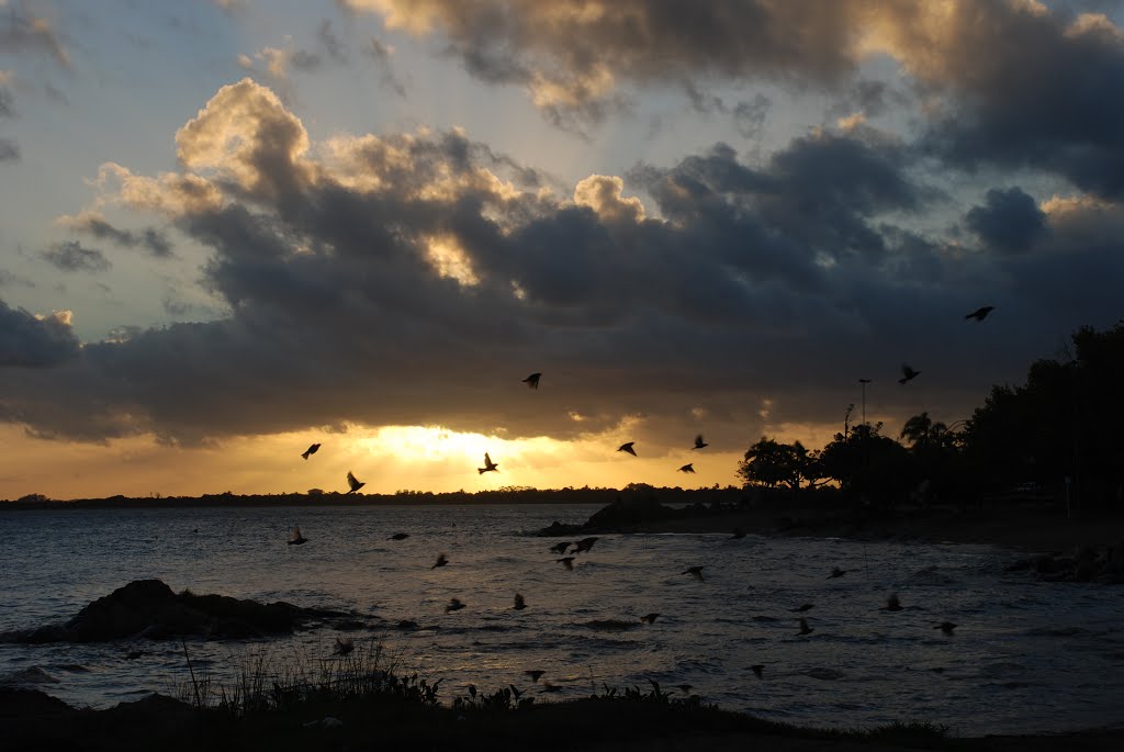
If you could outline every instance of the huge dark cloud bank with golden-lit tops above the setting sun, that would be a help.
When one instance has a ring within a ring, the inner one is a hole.
[[[312,143],[246,80],[176,147],[174,173],[105,165],[96,205],[208,248],[203,283],[226,312],[88,343],[45,378],[4,374],[6,419],[169,442],[347,423],[570,438],[628,422],[672,447],[705,418],[711,443],[738,445],[823,420],[858,375],[885,384],[880,416],[916,411],[922,389],[934,414],[962,415],[1037,354],[1044,287],[1109,295],[1120,277],[1094,268],[1124,257],[1105,229],[1079,245],[1104,211],[1061,199],[1044,205],[1043,253],[919,235],[904,221],[935,193],[870,126],[753,164],[716,144],[555,194],[460,130]],[[969,338],[980,299],[1012,315]],[[890,389],[903,360],[925,373],[908,393]],[[519,384],[531,371],[547,374],[536,392]]]

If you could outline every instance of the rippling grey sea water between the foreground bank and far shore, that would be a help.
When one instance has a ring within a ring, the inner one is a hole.
[[[977,545],[749,535],[604,535],[573,571],[532,532],[596,507],[347,507],[44,510],[0,515],[0,632],[60,623],[132,580],[179,591],[353,610],[356,645],[397,670],[544,699],[604,686],[691,685],[704,701],[797,724],[923,719],[960,735],[1124,725],[1124,591],[1004,572]],[[308,543],[287,545],[299,524]],[[396,542],[393,533],[410,537]],[[450,564],[432,569],[438,553]],[[703,581],[681,574],[705,567]],[[833,567],[847,570],[827,579]],[[515,592],[527,608],[511,608]],[[890,592],[904,609],[879,610]],[[459,598],[465,608],[446,614]],[[797,634],[803,614],[814,632]],[[652,625],[638,617],[659,613]],[[409,619],[422,628],[404,632]],[[629,628],[609,628],[616,620]],[[951,620],[954,635],[935,625]],[[600,623],[600,624],[599,624]],[[632,624],[637,626],[631,627]],[[189,641],[212,686],[264,660],[332,660],[332,629]],[[130,651],[144,654],[128,660]],[[763,678],[750,667],[763,664]],[[106,707],[187,685],[175,642],[0,644],[0,680]],[[544,671],[542,682],[524,674]],[[42,672],[42,673],[39,673]],[[544,683],[552,690],[544,692]],[[678,690],[677,690],[678,691]]]

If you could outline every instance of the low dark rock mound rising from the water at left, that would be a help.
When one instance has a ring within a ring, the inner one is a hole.
[[[283,601],[260,604],[227,596],[175,594],[160,580],[136,580],[99,598],[62,625],[7,633],[7,642],[108,642],[183,636],[245,638],[285,634],[315,622],[354,615],[301,608]]]

